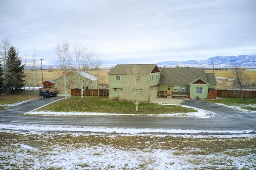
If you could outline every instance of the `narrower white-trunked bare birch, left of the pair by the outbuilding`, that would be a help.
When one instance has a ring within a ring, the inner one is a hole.
[[[57,43],[55,46],[55,53],[56,55],[58,55],[58,68],[61,70],[61,74],[64,77],[64,89],[66,99],[68,99],[66,76],[69,71],[68,67],[71,65],[72,61],[72,55],[70,54],[69,47],[70,45],[67,41]]]

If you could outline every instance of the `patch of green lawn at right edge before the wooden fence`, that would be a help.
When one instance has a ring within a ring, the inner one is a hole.
[[[228,106],[237,106],[248,111],[256,111],[256,99],[255,98],[243,98],[241,103],[241,98],[230,98],[221,97],[221,100],[206,100],[210,103],[222,103]]]

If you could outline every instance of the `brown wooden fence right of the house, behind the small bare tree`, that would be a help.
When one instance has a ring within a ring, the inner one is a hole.
[[[217,90],[218,97],[241,97],[241,90]],[[256,98],[256,90],[243,90],[244,98]]]

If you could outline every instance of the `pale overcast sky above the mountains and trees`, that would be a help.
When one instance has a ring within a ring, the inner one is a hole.
[[[1,40],[55,63],[63,40],[103,64],[202,60],[256,53],[256,1],[1,0]]]

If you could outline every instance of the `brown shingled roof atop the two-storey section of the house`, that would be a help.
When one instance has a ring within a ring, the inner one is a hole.
[[[128,74],[128,71],[132,70],[132,67],[134,67],[135,65],[137,65],[142,70],[144,70],[146,74],[150,74],[152,72],[161,73],[161,70],[158,68],[156,64],[118,64],[108,72],[108,75],[109,74]]]

